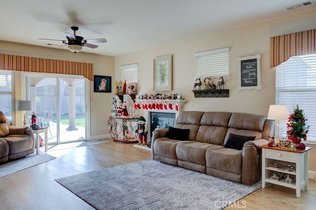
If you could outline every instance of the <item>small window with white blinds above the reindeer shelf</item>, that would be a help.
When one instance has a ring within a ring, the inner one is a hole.
[[[196,57],[196,77],[229,76],[229,48],[199,52]]]

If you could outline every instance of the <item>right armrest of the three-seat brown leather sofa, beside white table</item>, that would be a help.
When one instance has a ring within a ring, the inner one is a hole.
[[[241,182],[253,184],[261,178],[261,145],[267,144],[265,139],[247,141],[242,148]]]

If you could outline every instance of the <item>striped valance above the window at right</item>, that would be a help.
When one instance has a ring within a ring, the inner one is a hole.
[[[270,67],[276,67],[291,56],[316,53],[316,29],[270,38]]]

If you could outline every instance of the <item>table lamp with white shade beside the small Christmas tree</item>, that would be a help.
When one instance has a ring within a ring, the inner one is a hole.
[[[286,105],[270,105],[268,112],[268,120],[276,120],[275,124],[275,139],[282,139],[282,125],[280,120],[288,119],[287,107]]]

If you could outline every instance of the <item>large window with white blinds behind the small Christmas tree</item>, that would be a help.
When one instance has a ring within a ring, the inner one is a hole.
[[[316,143],[316,54],[294,56],[276,67],[276,104],[287,105],[289,114],[298,104],[311,126],[307,141]],[[286,122],[282,125],[286,136]]]

